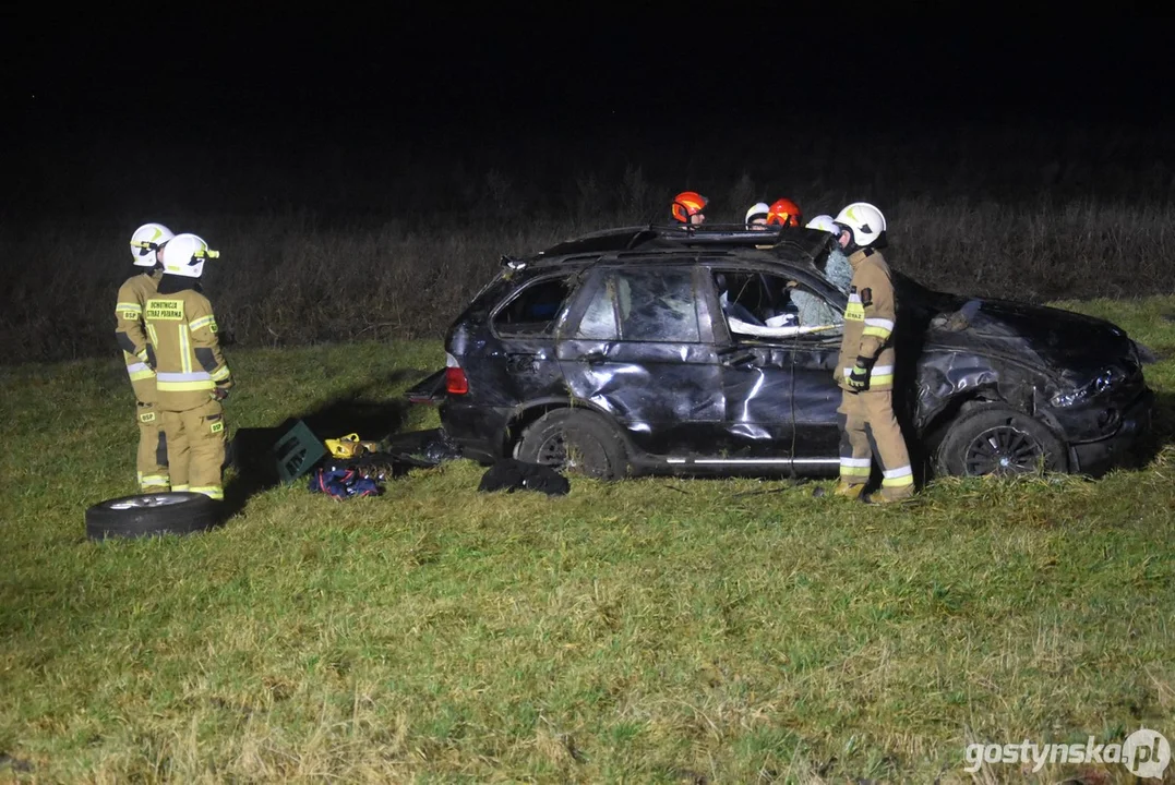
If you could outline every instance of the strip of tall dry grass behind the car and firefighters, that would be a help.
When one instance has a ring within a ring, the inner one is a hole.
[[[591,183],[584,187],[590,190]],[[752,192],[746,183],[737,187]],[[630,172],[624,188],[632,198],[653,190],[639,172]],[[835,209],[826,199],[810,204]],[[1139,297],[1155,293],[1164,260],[1175,256],[1175,207],[920,198],[899,199],[886,210],[894,266],[951,291],[1038,302]],[[308,214],[190,223],[224,255],[206,268],[204,284],[228,339],[290,346],[439,337],[497,270],[501,253],[535,251],[640,217],[633,209],[593,222],[511,221],[434,231],[408,221],[321,226]],[[114,351],[113,297],[129,272],[114,235],[112,226],[48,244],[0,236],[4,257],[35,259],[11,273],[4,295],[6,361]]]

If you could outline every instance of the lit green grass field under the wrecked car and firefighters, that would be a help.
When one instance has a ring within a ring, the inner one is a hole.
[[[1067,305],[1175,350],[1173,298]],[[398,399],[436,341],[228,359],[236,427],[436,425]],[[1169,400],[1175,359],[1147,375]],[[969,742],[1175,739],[1170,411],[1142,471],[940,480],[902,509],[751,479],[486,495],[454,461],[90,543],[86,507],[133,492],[118,359],[0,391],[0,780],[953,783]],[[1076,777],[1133,781],[974,774]]]

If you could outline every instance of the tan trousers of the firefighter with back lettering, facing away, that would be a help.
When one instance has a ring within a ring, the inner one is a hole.
[[[164,410],[162,414],[172,490],[223,499],[221,468],[226,441],[224,410],[220,401],[209,400],[183,412]]]

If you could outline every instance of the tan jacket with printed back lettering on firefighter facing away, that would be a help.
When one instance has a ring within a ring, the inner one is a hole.
[[[162,411],[196,408],[213,398],[216,387],[233,386],[212,303],[195,285],[192,278],[163,276],[143,310]]]

